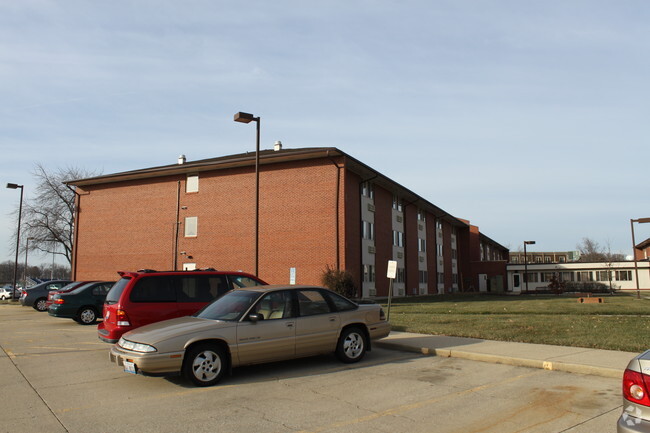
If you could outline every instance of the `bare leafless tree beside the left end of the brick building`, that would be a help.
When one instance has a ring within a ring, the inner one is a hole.
[[[32,174],[37,181],[36,193],[23,205],[25,230],[21,236],[29,238],[30,251],[57,254],[71,264],[75,193],[63,182],[95,174],[75,167],[49,172],[40,163]]]

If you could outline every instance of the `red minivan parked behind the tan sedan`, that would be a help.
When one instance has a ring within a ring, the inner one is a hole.
[[[245,272],[213,270],[118,272],[104,301],[100,340],[116,343],[132,329],[196,313],[229,290],[266,285]]]

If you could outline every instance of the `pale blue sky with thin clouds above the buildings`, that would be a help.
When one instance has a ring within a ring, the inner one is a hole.
[[[37,162],[254,150],[247,111],[263,148],[338,147],[512,250],[630,254],[650,217],[648,22],[642,0],[0,0],[1,180],[29,198]],[[19,193],[0,191],[12,260]]]

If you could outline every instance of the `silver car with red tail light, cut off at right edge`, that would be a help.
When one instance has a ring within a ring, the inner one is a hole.
[[[630,361],[623,374],[623,413],[618,433],[650,433],[650,350]]]

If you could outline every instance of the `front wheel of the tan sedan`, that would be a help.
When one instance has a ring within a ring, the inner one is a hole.
[[[191,347],[185,353],[183,375],[197,386],[212,386],[221,380],[228,358],[216,344],[207,343]]]

